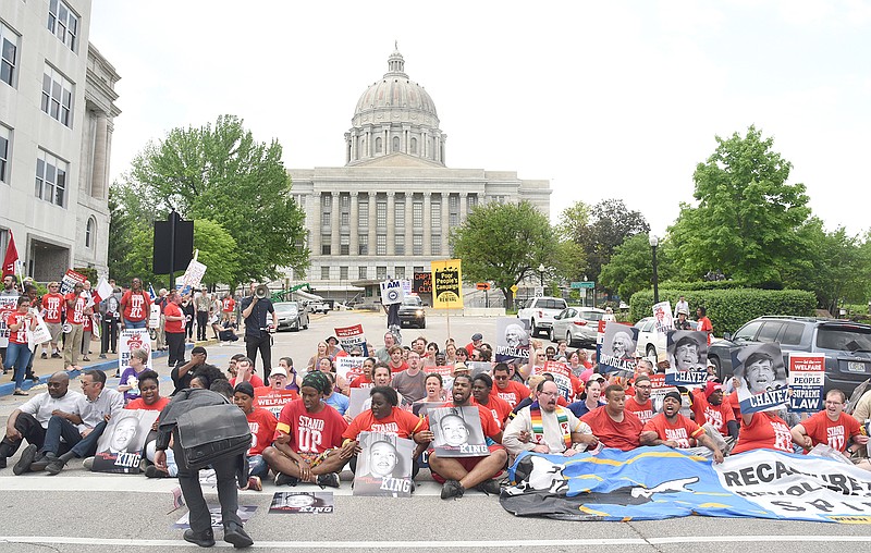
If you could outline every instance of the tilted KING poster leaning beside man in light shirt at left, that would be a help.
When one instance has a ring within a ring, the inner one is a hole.
[[[157,410],[124,409],[109,419],[97,441],[91,470],[138,475],[145,440],[159,415]]]

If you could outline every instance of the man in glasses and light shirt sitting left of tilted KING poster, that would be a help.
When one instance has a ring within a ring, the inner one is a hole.
[[[97,441],[106,430],[107,422],[124,409],[124,395],[118,390],[106,388],[103,371],[86,370],[81,381],[84,401],[79,400],[78,420],[71,420],[65,414],[53,415],[46,429],[46,442],[40,450],[40,456],[35,457],[26,470],[45,469],[54,476],[73,458],[93,457],[97,453]],[[69,447],[65,453],[61,453],[61,440]]]

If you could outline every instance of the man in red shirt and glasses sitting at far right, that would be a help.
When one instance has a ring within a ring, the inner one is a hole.
[[[826,444],[849,457],[855,447],[847,447],[848,440],[854,444],[866,445],[868,437],[862,433],[861,423],[851,415],[844,413],[847,396],[841,390],[830,390],[825,394],[825,410],[813,414],[793,427],[793,441],[808,453],[818,443]]]

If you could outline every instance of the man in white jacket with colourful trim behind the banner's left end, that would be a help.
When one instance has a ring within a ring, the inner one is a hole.
[[[536,401],[520,409],[502,437],[502,443],[512,456],[525,451],[572,456],[599,444],[589,425],[556,405],[559,396],[560,389],[555,382],[539,382]]]

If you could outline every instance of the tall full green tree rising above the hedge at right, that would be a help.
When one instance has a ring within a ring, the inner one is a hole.
[[[745,136],[717,136],[716,143],[692,175],[698,206],[682,204],[670,229],[682,272],[699,278],[720,270],[777,287],[809,265],[798,232],[810,216],[805,185],[786,183],[792,163],[755,126]]]

